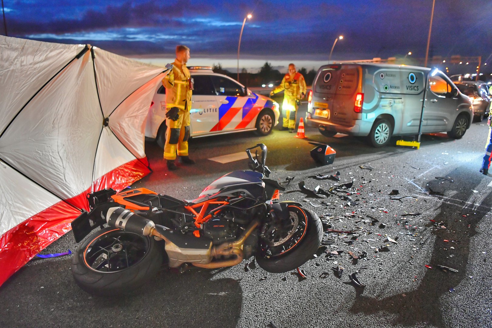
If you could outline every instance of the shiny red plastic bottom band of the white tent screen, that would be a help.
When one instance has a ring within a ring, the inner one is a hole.
[[[91,188],[66,202],[88,210],[86,195],[89,192],[104,188],[120,191],[148,175],[151,171],[141,160],[135,159],[108,172],[92,182]],[[0,286],[40,251],[71,230],[70,222],[80,215],[80,211],[66,202],[31,216],[0,236]]]

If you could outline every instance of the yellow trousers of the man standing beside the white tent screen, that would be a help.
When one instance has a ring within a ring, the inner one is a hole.
[[[188,139],[190,133],[189,111],[180,109],[178,120],[166,119],[166,143],[164,145],[164,159],[176,159],[178,156],[188,156]]]

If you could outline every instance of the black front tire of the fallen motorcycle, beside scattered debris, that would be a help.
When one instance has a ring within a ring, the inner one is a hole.
[[[283,255],[267,258],[261,254],[256,255],[256,262],[265,271],[272,273],[282,273],[294,270],[312,259],[321,245],[323,238],[323,226],[318,215],[310,209],[288,206],[289,208],[300,209],[306,215],[307,229],[306,233],[300,239],[294,248]],[[289,209],[290,210],[290,209]]]

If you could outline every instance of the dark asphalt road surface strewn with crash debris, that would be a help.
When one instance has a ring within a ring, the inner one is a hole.
[[[247,168],[245,159],[209,158],[266,144],[271,178],[295,177],[282,200],[302,202],[333,230],[356,231],[325,232],[317,257],[302,267],[307,279],[245,260],[216,270],[162,268],[135,295],[96,298],[75,285],[70,256],[32,260],[0,288],[0,327],[492,327],[492,178],[478,172],[486,124],[472,124],[456,141],[425,135],[419,150],[374,149],[362,138],[325,138],[312,129],[300,140],[277,128],[262,138],[247,132],[194,139],[196,165],[174,172],[162,150],[147,143],[154,172],[132,187],[194,199],[214,179]],[[308,141],[336,149],[335,163],[317,166]],[[339,182],[311,178],[337,171]],[[350,195],[308,198],[298,191],[300,181],[327,190],[352,180]],[[76,246],[68,233],[43,253]],[[343,252],[328,256],[337,250]],[[367,256],[353,259],[348,251]],[[340,278],[337,266],[344,268]],[[365,287],[350,282],[354,272]]]

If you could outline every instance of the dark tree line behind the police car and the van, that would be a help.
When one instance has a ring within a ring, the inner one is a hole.
[[[224,74],[233,79],[237,79],[238,77],[237,73],[232,73],[223,69],[220,63],[217,65],[214,64],[212,70],[215,73]],[[307,71],[305,67],[301,67],[297,71],[304,76],[308,86],[312,85],[314,77],[316,76],[316,71],[314,69]],[[247,87],[260,87],[263,84],[268,85],[269,83],[273,83],[277,86],[280,81],[282,81],[283,76],[283,73],[280,73],[277,69],[273,69],[272,64],[267,61],[263,64],[258,73],[248,73],[247,70],[243,68],[239,74],[239,82]]]

